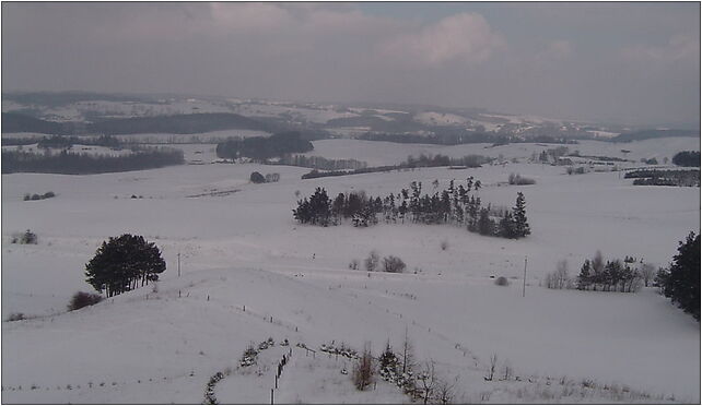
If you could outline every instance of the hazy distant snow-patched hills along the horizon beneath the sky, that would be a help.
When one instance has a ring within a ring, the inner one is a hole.
[[[595,128],[571,120],[546,119],[529,115],[507,115],[477,109],[437,106],[323,104],[288,100],[222,98],[209,96],[109,95],[91,93],[7,93],[2,95],[5,116],[3,134],[19,132],[89,133],[114,131],[118,121],[128,128],[143,120],[161,117],[185,118],[191,115],[230,115],[249,118],[260,126],[324,130],[336,136],[355,138],[367,132],[431,135],[446,131],[468,131],[494,136],[518,138],[611,138],[617,128]],[[199,126],[209,132],[206,123]],[[245,124],[245,126],[244,126]],[[232,129],[260,130],[254,122],[232,124]],[[163,126],[160,126],[163,127]],[[224,128],[222,128],[224,129]],[[218,129],[219,130],[219,129]],[[124,129],[121,129],[124,131]],[[133,130],[132,132],[153,132]],[[173,130],[172,130],[173,132]],[[175,131],[178,132],[178,131]]]

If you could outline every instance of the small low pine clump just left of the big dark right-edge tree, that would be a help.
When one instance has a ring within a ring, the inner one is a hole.
[[[619,259],[607,261],[597,251],[595,256],[585,260],[577,275],[577,289],[633,292],[641,287],[642,272],[636,266],[636,261],[625,256],[623,262]]]

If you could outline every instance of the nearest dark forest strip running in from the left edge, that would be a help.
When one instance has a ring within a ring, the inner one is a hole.
[[[184,164],[183,151],[150,148],[130,155],[109,156],[75,154],[36,154],[23,151],[2,152],[2,174],[40,172],[89,175],[161,168]]]

